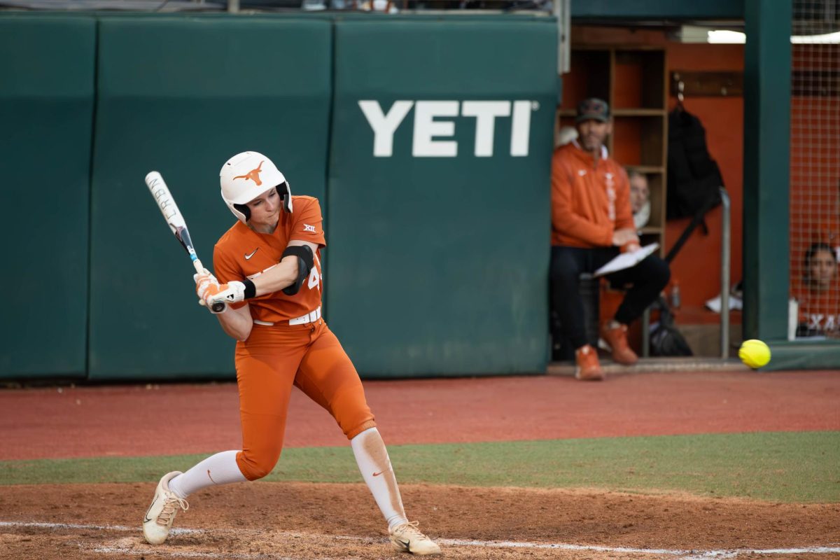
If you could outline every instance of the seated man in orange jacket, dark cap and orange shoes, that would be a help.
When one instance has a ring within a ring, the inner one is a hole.
[[[600,380],[604,374],[596,350],[586,342],[578,280],[620,252],[638,249],[639,240],[627,173],[604,146],[612,133],[609,106],[601,99],[585,99],[575,122],[578,139],[554,150],[551,163],[551,306],[563,336],[575,348],[575,377]],[[659,296],[669,277],[668,264],[655,255],[606,276],[612,285],[630,285],[615,317],[601,327],[601,337],[619,364],[638,360],[627,344],[627,324]]]

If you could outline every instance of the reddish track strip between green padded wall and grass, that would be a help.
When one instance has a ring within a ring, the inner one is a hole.
[[[840,430],[840,372],[365,381],[389,445],[722,432]],[[0,460],[236,448],[234,383],[0,390]],[[170,437],[160,434],[170,432]],[[293,391],[286,447],[346,445]]]

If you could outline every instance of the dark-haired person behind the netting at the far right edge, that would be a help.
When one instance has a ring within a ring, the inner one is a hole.
[[[837,254],[828,243],[811,243],[802,264],[805,272],[795,291],[799,303],[796,336],[840,338]]]

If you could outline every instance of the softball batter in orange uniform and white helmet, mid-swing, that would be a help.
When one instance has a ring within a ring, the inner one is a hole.
[[[321,248],[326,246],[318,199],[291,196],[276,166],[256,152],[234,155],[220,173],[222,198],[238,222],[213,253],[217,280],[196,275],[207,309],[236,338],[236,380],[242,450],[225,451],[181,473],[165,474],[146,511],[146,541],[166,540],[186,497],[213,486],[256,480],[280,458],[291,386],[323,406],[339,423],[362,477],[388,523],[397,551],[438,554],[440,547],[409,522],[385,443],[365,400],[359,374],[321,317]]]

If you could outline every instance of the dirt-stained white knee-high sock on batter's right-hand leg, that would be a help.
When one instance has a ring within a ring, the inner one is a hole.
[[[369,428],[350,440],[356,464],[359,465],[362,477],[370,489],[370,494],[376,500],[376,505],[385,516],[388,528],[391,529],[407,520],[406,512],[402,508],[400,489],[396,485],[394,469],[385,442],[379,435],[379,430]]]

